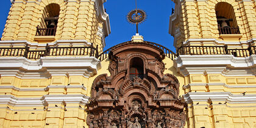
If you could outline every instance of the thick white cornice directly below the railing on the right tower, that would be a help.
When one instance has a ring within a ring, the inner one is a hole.
[[[189,74],[222,74],[223,76],[255,76],[256,55],[180,55],[174,66],[183,76]]]

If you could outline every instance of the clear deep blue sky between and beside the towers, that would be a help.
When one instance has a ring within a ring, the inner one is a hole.
[[[2,0],[0,8],[0,32],[4,30],[5,21],[10,10],[10,1]],[[174,3],[171,0],[137,0],[138,9],[146,11],[148,19],[139,25],[139,33],[144,40],[162,44],[166,48],[176,51],[173,46],[173,38],[168,34],[169,16]],[[135,9],[135,0],[107,0],[104,4],[110,16],[111,34],[106,38],[108,49],[115,44],[129,41],[136,33],[134,24],[126,21],[126,15]]]

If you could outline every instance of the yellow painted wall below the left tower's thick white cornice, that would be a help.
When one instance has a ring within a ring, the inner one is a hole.
[[[100,74],[108,72],[109,60],[101,62],[102,68],[98,74],[86,78],[84,76],[52,76],[49,79],[20,79],[18,77],[0,77],[0,96],[15,96],[15,98],[41,98],[44,96],[71,94],[84,94],[90,96],[93,80]],[[76,85],[81,87],[69,88]],[[49,86],[51,85],[51,86]],[[53,88],[61,86],[60,88]],[[18,88],[18,89],[17,89]],[[31,91],[26,89],[38,89]],[[25,90],[24,90],[25,89]],[[19,107],[13,104],[0,105],[0,127],[88,127],[85,119],[87,112],[85,104],[76,103],[49,103],[43,105],[31,105]]]

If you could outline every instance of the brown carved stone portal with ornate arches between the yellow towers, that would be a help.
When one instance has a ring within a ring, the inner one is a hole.
[[[179,80],[163,74],[165,55],[146,43],[117,45],[109,54],[108,70],[94,79],[88,107],[90,127],[183,127],[186,107],[179,98]],[[143,77],[130,78],[134,58],[143,62]]]

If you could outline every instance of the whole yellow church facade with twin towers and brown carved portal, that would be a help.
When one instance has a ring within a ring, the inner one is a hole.
[[[138,34],[103,51],[105,0],[11,2],[0,127],[256,127],[255,1],[173,0],[175,52]]]

